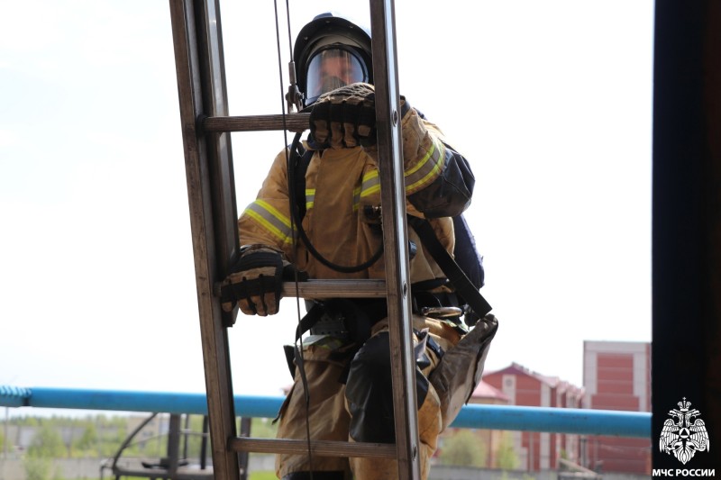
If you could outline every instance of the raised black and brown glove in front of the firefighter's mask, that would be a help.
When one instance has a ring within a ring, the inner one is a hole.
[[[315,149],[350,149],[376,144],[376,92],[355,83],[321,95],[310,113]]]

